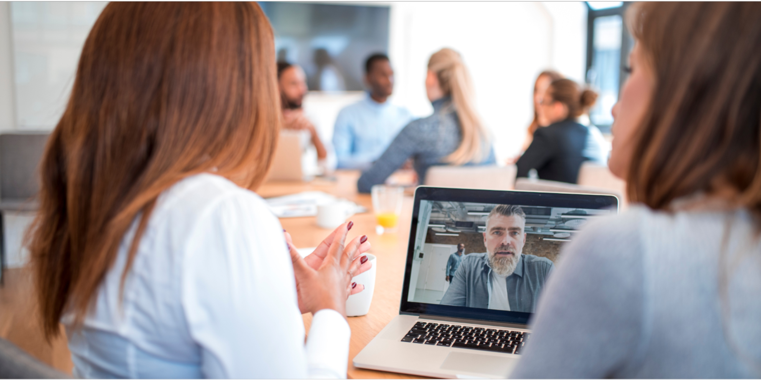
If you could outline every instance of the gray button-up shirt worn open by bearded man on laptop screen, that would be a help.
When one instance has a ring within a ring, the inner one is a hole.
[[[513,312],[533,312],[537,300],[552,268],[552,261],[534,255],[521,255],[513,274],[505,280],[508,286],[508,302]],[[492,293],[489,253],[471,253],[460,261],[441,305],[466,306],[489,309]]]

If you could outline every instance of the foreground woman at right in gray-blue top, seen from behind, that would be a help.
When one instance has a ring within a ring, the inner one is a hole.
[[[761,4],[642,2],[609,166],[515,378],[761,377]]]

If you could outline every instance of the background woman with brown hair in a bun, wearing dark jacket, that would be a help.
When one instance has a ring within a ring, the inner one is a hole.
[[[533,141],[518,159],[517,176],[527,177],[536,169],[540,179],[576,183],[581,163],[587,157],[589,128],[578,122],[597,100],[597,93],[582,89],[575,81],[552,81],[537,109],[539,125]]]

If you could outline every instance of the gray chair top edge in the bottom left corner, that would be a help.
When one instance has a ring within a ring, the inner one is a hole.
[[[0,378],[72,378],[0,338]]]

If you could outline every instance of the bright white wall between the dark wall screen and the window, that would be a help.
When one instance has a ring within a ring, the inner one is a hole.
[[[417,116],[429,115],[423,86],[428,57],[443,47],[455,49],[470,68],[498,160],[514,156],[533,116],[536,75],[556,68],[583,78],[585,7],[582,2],[393,3],[389,53],[396,102]]]

